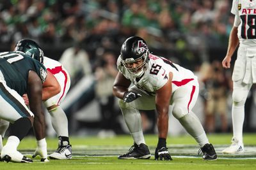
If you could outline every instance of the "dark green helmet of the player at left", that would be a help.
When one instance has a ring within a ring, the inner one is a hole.
[[[42,64],[44,64],[44,52],[42,48],[31,39],[20,40],[16,44],[14,51],[24,52],[33,59],[36,59]]]

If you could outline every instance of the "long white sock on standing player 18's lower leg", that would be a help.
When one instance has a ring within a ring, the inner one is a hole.
[[[243,143],[243,124],[244,124],[244,106],[232,105],[232,125],[233,135],[239,141]]]

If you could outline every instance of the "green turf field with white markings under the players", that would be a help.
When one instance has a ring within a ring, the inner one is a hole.
[[[146,135],[145,139],[152,157],[149,160],[118,160],[119,154],[126,153],[132,145],[129,135],[100,139],[95,136],[84,138],[70,137],[73,149],[71,160],[50,160],[40,162],[33,159],[32,164],[0,162],[0,169],[256,169],[256,134],[244,134],[245,152],[241,155],[223,155],[221,150],[230,144],[231,134],[209,134],[209,140],[215,146],[218,160],[205,161],[198,156],[198,146],[190,136],[169,137],[167,140],[172,161],[154,160],[154,149],[157,144],[156,135]],[[6,140],[4,140],[6,141]],[[57,139],[47,138],[48,153],[57,147]],[[19,145],[20,152],[31,157],[36,148],[34,138],[25,138]]]

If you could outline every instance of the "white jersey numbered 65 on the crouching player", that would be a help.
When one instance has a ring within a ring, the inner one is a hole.
[[[155,95],[156,90],[165,85],[169,79],[170,72],[173,73],[172,92],[175,92],[179,87],[197,78],[189,69],[174,64],[164,57],[150,54],[149,59],[147,70],[141,78],[132,77],[129,71],[122,65],[120,57],[118,57],[117,60],[117,68],[124,74],[125,78],[131,80],[136,87],[152,96]]]

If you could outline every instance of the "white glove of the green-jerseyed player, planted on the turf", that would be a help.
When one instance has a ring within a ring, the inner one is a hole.
[[[41,162],[49,162],[47,159],[47,143],[45,138],[36,141],[36,143],[37,147],[32,157],[35,158],[37,155],[39,155],[41,157]]]

